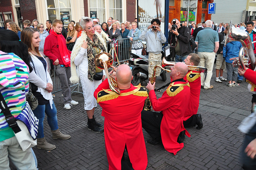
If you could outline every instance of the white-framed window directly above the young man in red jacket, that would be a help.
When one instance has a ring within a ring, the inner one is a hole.
[[[64,26],[72,20],[70,0],[47,0],[48,20],[63,20]]]

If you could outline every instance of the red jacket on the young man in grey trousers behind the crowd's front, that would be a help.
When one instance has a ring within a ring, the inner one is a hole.
[[[61,35],[61,38],[66,43],[64,36]],[[71,51],[69,51],[69,53],[71,54]],[[60,50],[59,50],[57,37],[54,36],[53,34],[49,34],[49,36],[47,36],[45,38],[44,55],[49,57],[53,61],[53,63],[56,59],[59,59],[59,64],[64,65],[62,58],[60,56]]]

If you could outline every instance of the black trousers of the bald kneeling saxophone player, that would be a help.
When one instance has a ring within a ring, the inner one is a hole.
[[[142,127],[154,138],[161,138],[160,126],[163,119],[163,114],[160,112],[141,112]]]

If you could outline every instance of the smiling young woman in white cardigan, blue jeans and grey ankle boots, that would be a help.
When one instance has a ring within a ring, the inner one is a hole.
[[[30,85],[33,83],[37,90],[32,90],[34,96],[38,99],[38,107],[33,111],[34,115],[39,119],[37,148],[44,150],[53,150],[56,148],[54,144],[46,142],[44,138],[44,114],[47,115],[48,125],[51,128],[52,138],[69,139],[69,134],[62,134],[58,128],[57,110],[52,98],[52,79],[48,71],[46,71],[47,63],[40,54],[38,48],[40,44],[40,34],[37,29],[25,28],[21,33],[21,41],[28,46],[28,53],[32,59],[30,65],[33,71],[29,73]],[[32,84],[32,85],[33,85]]]

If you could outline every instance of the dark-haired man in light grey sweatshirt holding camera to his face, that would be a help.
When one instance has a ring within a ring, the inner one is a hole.
[[[166,37],[164,33],[160,29],[161,22],[157,18],[151,21],[151,25],[140,34],[140,40],[147,42],[147,52],[148,59],[150,60],[162,60],[162,43],[166,42]],[[152,28],[152,30],[148,31],[148,29]],[[148,67],[148,75],[149,81],[151,81],[151,76],[154,71],[154,65],[161,65],[161,62],[150,61],[152,62],[152,66]],[[159,67],[156,68],[156,76],[159,76],[161,69]],[[156,81],[156,77],[154,77],[154,82]]]

